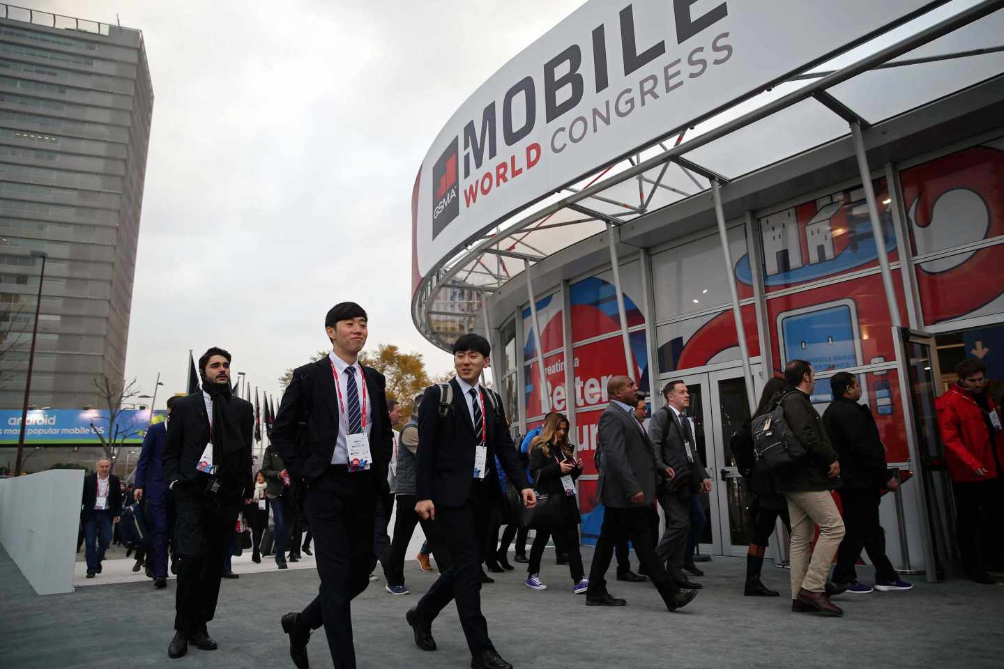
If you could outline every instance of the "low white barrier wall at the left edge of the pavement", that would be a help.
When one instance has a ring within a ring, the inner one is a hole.
[[[82,469],[0,478],[0,544],[39,595],[73,592]]]

